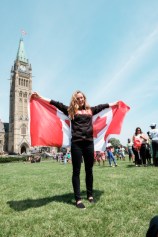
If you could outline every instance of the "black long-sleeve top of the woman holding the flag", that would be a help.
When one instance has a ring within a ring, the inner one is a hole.
[[[68,116],[68,106],[51,100],[50,104],[56,106],[66,116]],[[103,109],[109,108],[109,104],[100,104],[94,107],[90,107],[90,113],[75,114],[74,119],[71,120],[71,142],[77,141],[93,141],[93,125],[92,116],[99,113]]]

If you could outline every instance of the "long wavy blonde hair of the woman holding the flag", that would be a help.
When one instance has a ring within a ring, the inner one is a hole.
[[[84,97],[84,109],[85,110],[90,109],[90,106],[87,103],[87,98],[86,98],[85,94],[81,91],[75,91],[72,95],[70,105],[69,105],[69,108],[68,108],[68,114],[69,114],[70,119],[74,119],[74,116],[75,116],[77,110],[79,109],[79,105],[78,105],[78,101],[77,101],[77,95],[79,93],[81,93]]]

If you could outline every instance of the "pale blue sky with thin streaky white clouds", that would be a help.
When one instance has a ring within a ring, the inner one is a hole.
[[[90,105],[131,107],[122,144],[158,123],[157,0],[27,0],[0,3],[0,119],[9,121],[10,70],[20,30],[33,70],[33,91],[69,104],[76,90]]]

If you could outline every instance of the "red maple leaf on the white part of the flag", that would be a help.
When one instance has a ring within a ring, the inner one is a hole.
[[[97,138],[98,133],[107,126],[106,119],[107,117],[97,117],[97,119],[93,123],[93,137]]]

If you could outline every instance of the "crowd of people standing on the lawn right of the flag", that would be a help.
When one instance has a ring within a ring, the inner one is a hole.
[[[133,162],[136,167],[158,166],[158,129],[155,123],[150,125],[150,131],[147,134],[137,127],[132,139],[127,139],[126,147],[120,145],[114,149],[108,142],[105,152],[96,152],[94,157],[95,162],[98,162],[99,165],[102,160],[103,165],[105,160],[108,160],[110,167],[116,167],[116,160],[125,160],[126,154],[129,156],[129,162]]]

